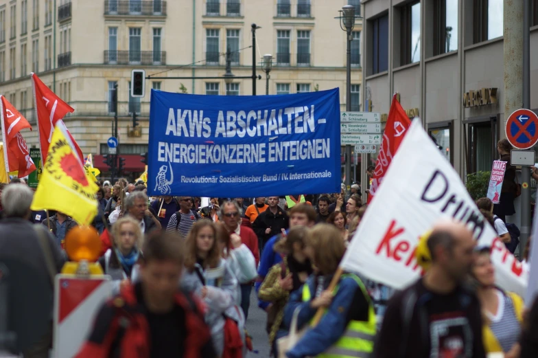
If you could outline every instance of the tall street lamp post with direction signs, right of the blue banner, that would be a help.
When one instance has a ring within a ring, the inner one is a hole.
[[[347,65],[346,65],[346,111],[351,111],[351,41],[353,41],[353,27],[355,27],[355,6],[344,5],[340,12],[340,28],[347,32]],[[346,192],[351,194],[351,146],[346,146]]]

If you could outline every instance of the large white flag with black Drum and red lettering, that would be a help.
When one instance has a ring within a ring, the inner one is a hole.
[[[468,225],[477,245],[491,247],[497,283],[523,295],[528,272],[485,221],[458,173],[414,120],[383,185],[375,193],[340,264],[395,289],[419,278],[414,258],[419,237],[441,217]]]

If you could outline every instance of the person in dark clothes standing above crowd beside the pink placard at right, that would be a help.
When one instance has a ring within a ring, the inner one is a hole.
[[[515,214],[514,199],[517,191],[521,193],[521,189],[516,181],[515,166],[511,164],[512,144],[508,139],[503,138],[497,143],[497,150],[500,155],[500,160],[506,161],[506,170],[504,172],[504,180],[502,181],[501,196],[499,203],[493,205],[493,214],[500,217],[506,223],[506,216]]]

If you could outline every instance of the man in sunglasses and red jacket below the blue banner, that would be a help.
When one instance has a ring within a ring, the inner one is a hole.
[[[258,238],[250,227],[240,225],[240,210],[239,205],[233,201],[226,201],[220,207],[219,219],[224,223],[224,227],[230,234],[237,234],[241,237],[241,242],[250,249],[256,260],[256,267],[259,262]],[[241,308],[245,314],[245,319],[248,317],[248,306],[250,306],[250,291],[252,291],[253,282],[241,284]]]

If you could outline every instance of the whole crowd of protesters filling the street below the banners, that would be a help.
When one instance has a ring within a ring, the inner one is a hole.
[[[525,313],[522,298],[495,287],[491,250],[476,247],[464,225],[440,221],[421,238],[424,274],[403,291],[342,272],[367,210],[358,185],[344,189],[201,205],[198,197],[148,198],[143,182],[101,182],[92,225],[114,298],[77,357],[246,357],[253,287],[274,357],[534,354],[537,304]],[[0,184],[0,259],[21,256],[46,279],[49,262],[58,273],[69,260],[65,237],[78,224],[62,212],[32,212],[32,197],[23,182]],[[508,247],[504,218],[487,198],[477,205]],[[24,357],[48,357],[51,330],[38,338]]]

